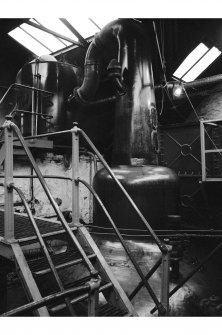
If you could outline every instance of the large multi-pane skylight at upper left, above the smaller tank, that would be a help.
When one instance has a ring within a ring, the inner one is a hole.
[[[113,18],[69,18],[69,23],[79,32],[83,38],[94,36],[105,24],[112,21]],[[17,42],[32,51],[36,56],[43,54],[51,54],[72,45],[71,41],[67,41],[60,37],[53,36],[50,32],[41,30],[41,26],[62,35],[73,41],[78,41],[75,34],[66,27],[66,25],[58,18],[35,18],[29,21],[39,25],[39,28],[31,26],[27,23],[21,24],[8,34]],[[62,37],[61,36],[61,37]]]

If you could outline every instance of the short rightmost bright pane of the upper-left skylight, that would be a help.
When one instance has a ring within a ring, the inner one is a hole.
[[[66,19],[84,38],[94,36],[99,31],[88,18],[74,17]]]

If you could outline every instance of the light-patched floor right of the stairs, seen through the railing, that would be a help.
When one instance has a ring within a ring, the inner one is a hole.
[[[131,293],[136,284],[140,282],[140,278],[120,242],[99,238],[97,243],[124,291]],[[144,274],[149,271],[149,268],[151,268],[160,257],[157,246],[152,242],[139,242],[132,239],[127,240],[127,245],[133,252]],[[203,258],[203,253],[201,253],[200,250],[197,245],[190,244],[189,248],[184,252],[184,259],[180,263],[181,278],[190,273],[198,261]],[[212,265],[212,263],[210,264]],[[201,315],[199,309],[201,299],[209,298],[212,294],[222,297],[221,289],[216,284],[216,286],[212,286],[211,280],[211,276],[214,277],[214,280],[216,280],[217,276],[218,282],[220,281],[218,276],[220,267],[214,267],[212,270],[211,265],[210,271],[208,271],[209,269],[207,267],[198,271],[170,298],[171,316],[199,316]],[[160,297],[160,271],[161,267],[159,267],[149,280],[157,297]],[[175,284],[170,283],[170,290],[174,287]],[[140,290],[132,303],[139,316],[152,316],[150,310],[154,307],[154,303],[146,288],[143,287]],[[157,316],[157,312],[153,316]]]

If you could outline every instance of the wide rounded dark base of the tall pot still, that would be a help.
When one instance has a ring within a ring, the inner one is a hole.
[[[168,228],[168,216],[178,213],[178,177],[162,166],[119,165],[112,168],[118,180],[130,194],[148,223],[155,229]],[[119,228],[145,229],[105,169],[97,172],[94,189]],[[95,204],[94,222],[110,225],[102,209]]]

